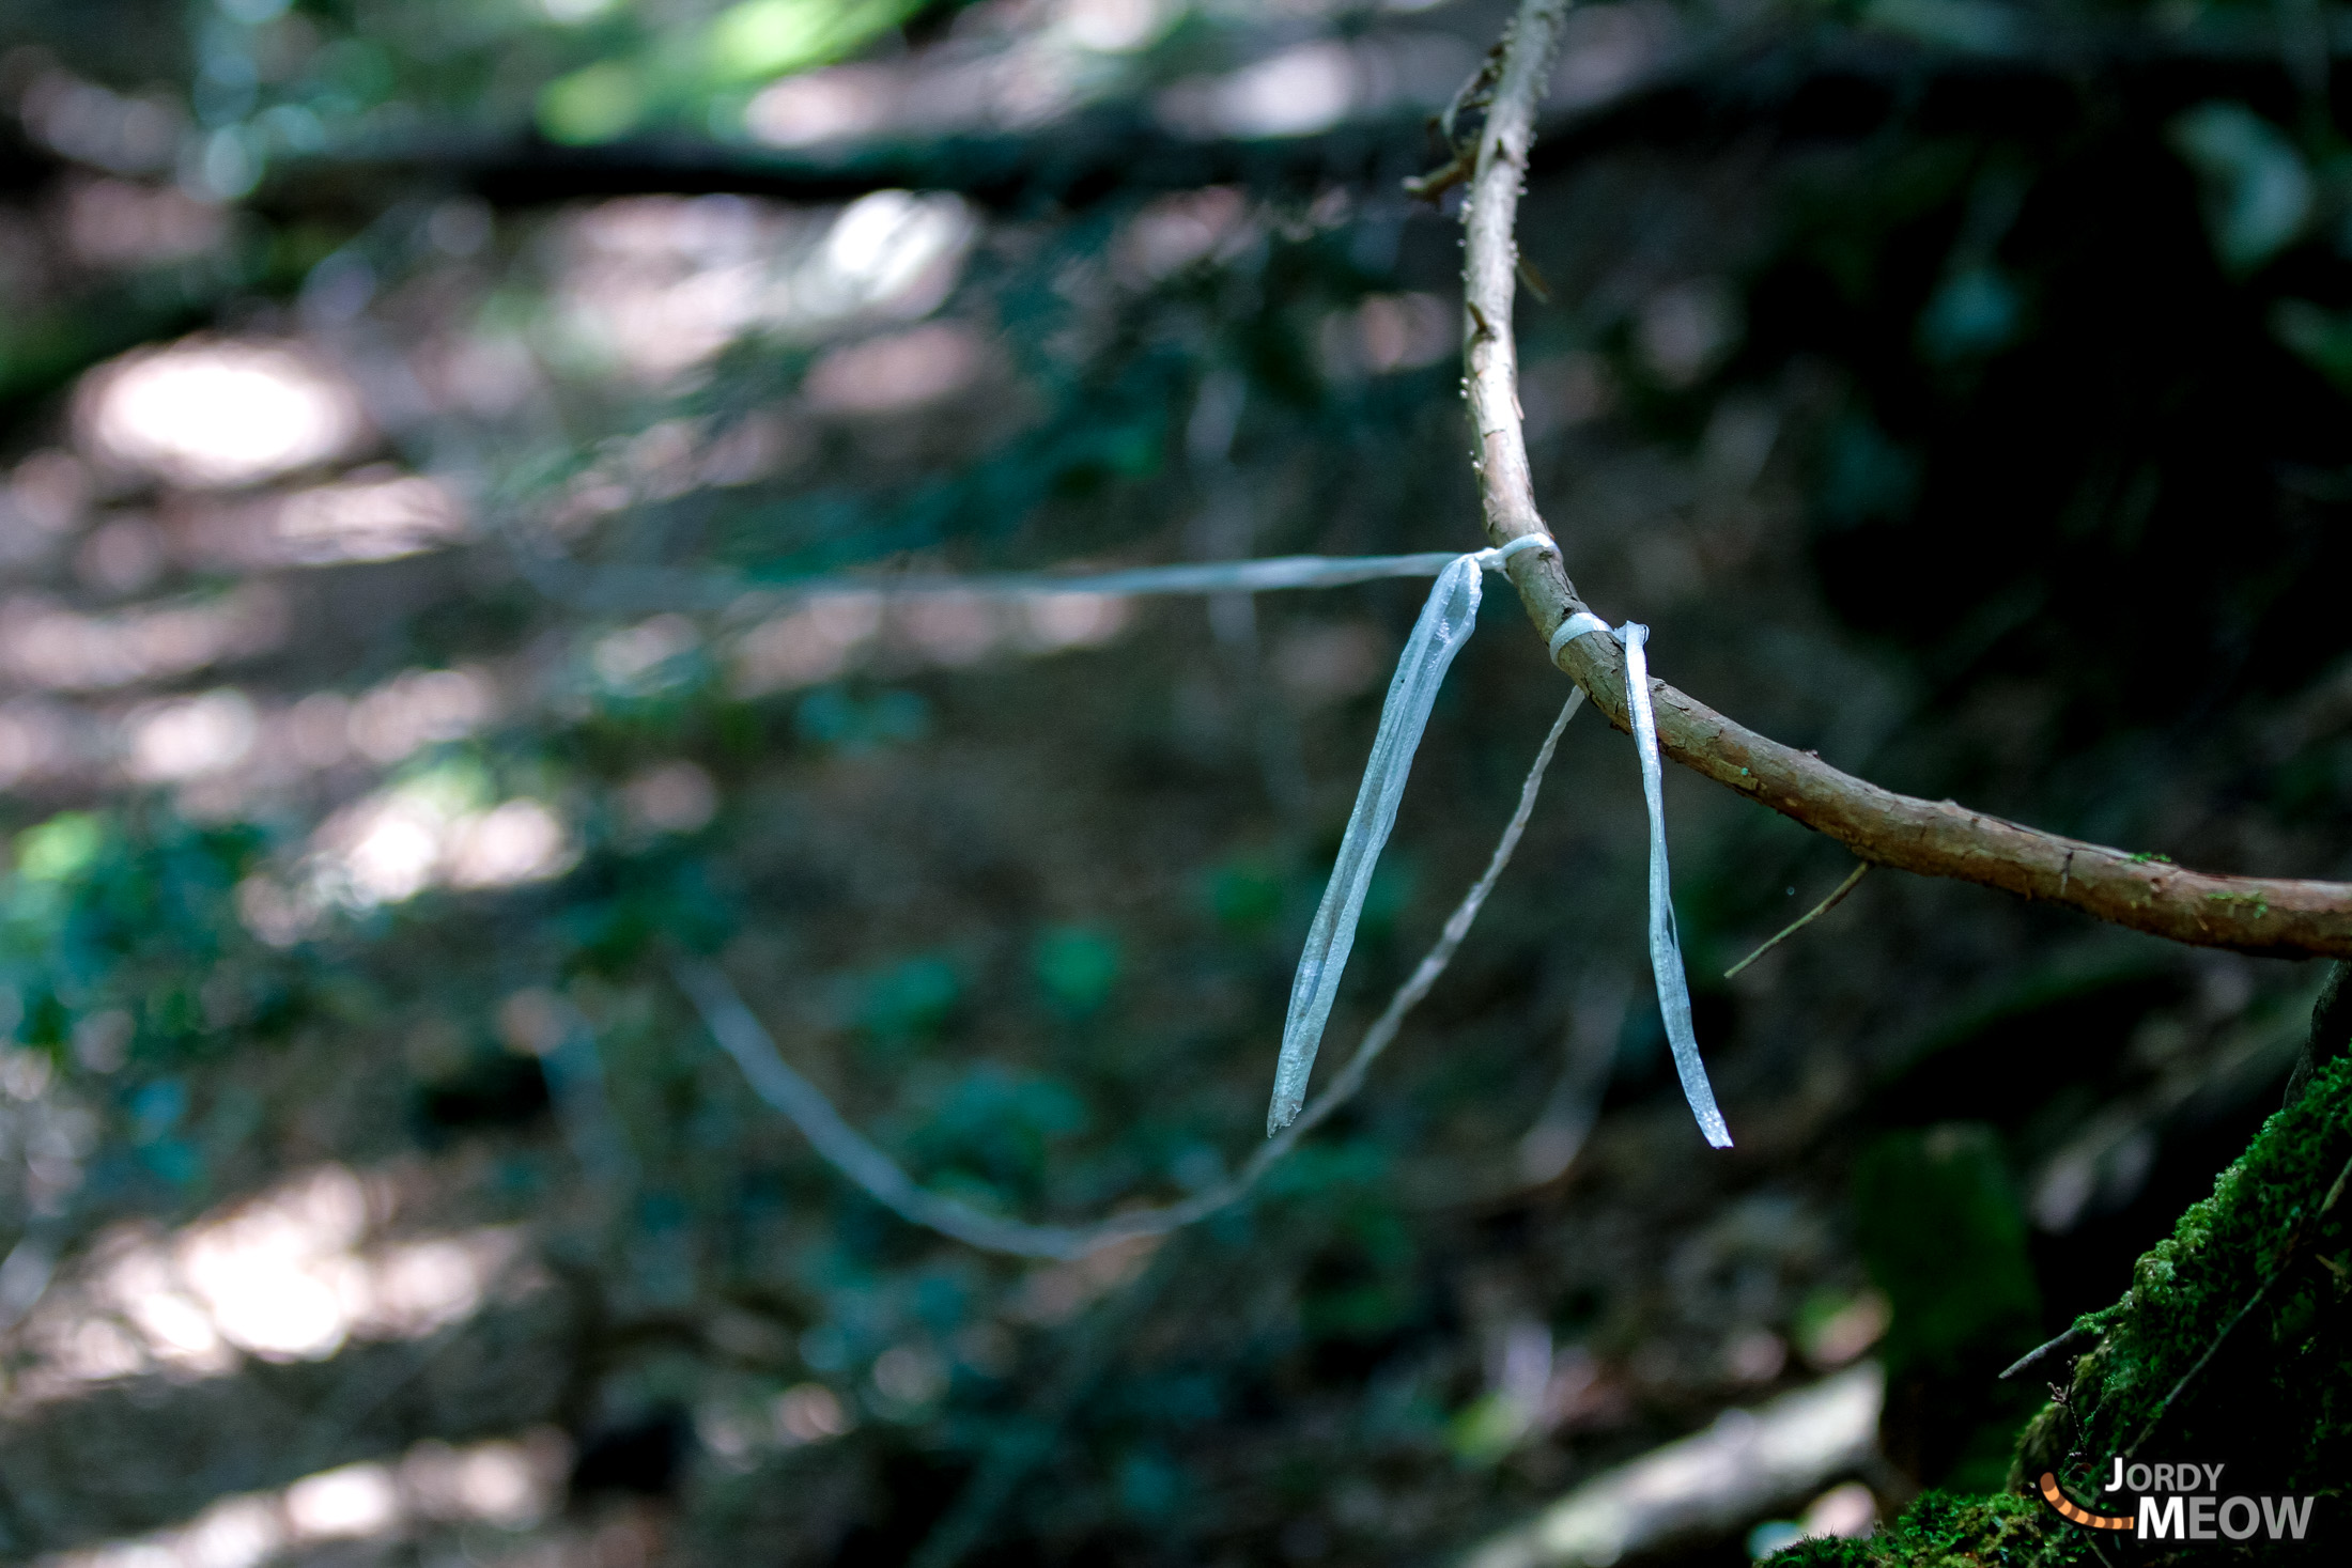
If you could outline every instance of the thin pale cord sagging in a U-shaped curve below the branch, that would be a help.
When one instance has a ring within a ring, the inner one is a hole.
[[[1526,771],[1526,780],[1519,785],[1519,806],[1510,813],[1503,837],[1496,839],[1494,856],[1486,858],[1486,870],[1470,884],[1463,900],[1454,905],[1454,914],[1446,917],[1444,929],[1437,933],[1437,940],[1423,954],[1414,973],[1397,987],[1397,994],[1388,999],[1388,1006],[1371,1020],[1371,1027],[1364,1030],[1364,1039],[1357,1044],[1355,1056],[1348,1058],[1348,1065],[1334,1074],[1324,1091],[1308,1103],[1303,1112],[1298,1112],[1296,1121],[1258,1145],[1258,1152],[1251,1154],[1249,1164],[1244,1164],[1235,1175],[1192,1194],[1181,1204],[1138,1208],[1094,1225],[1030,1225],[1025,1220],[1007,1220],[983,1213],[960,1199],[929,1192],[915,1182],[913,1175],[901,1171],[889,1154],[877,1150],[854,1126],[849,1126],[849,1121],[842,1119],[842,1112],[833,1107],[833,1100],[828,1100],[816,1084],[804,1079],[790,1063],[783,1060],[783,1053],[776,1048],[776,1039],[767,1032],[750,1006],[743,1004],[741,992],[736,992],[734,983],[717,964],[677,957],[670,961],[670,976],[687,994],[687,1001],[694,1004],[694,1011],[701,1013],[703,1027],[710,1030],[710,1037],[736,1060],[736,1067],[743,1070],[753,1093],[783,1112],[835,1171],[863,1187],[868,1197],[896,1213],[901,1220],[922,1225],[924,1229],[936,1229],[943,1237],[981,1251],[1011,1253],[1016,1258],[1084,1258],[1087,1253],[1096,1253],[1120,1241],[1134,1241],[1136,1237],[1164,1237],[1197,1220],[1207,1220],[1223,1208],[1232,1208],[1249,1197],[1258,1180],[1272,1171],[1284,1154],[1298,1147],[1301,1138],[1322,1126],[1364,1086],[1371,1065],[1397,1037],[1397,1027],[1404,1023],[1404,1016],[1430,994],[1430,987],[1437,985],[1446,964],[1454,961],[1454,952],[1461,947],[1463,938],[1470,936],[1470,922],[1477,919],[1486,896],[1494,893],[1494,884],[1501,879],[1503,867],[1510,865],[1510,856],[1519,846],[1519,837],[1526,832],[1526,818],[1536,809],[1536,792],[1543,788],[1543,773],[1552,766],[1552,752],[1559,750],[1559,733],[1569,726],[1569,719],[1576,717],[1581,705],[1583,693],[1576,691],[1562,705],[1559,717],[1552,719],[1552,729],[1543,738],[1543,748],[1536,750],[1536,762]]]

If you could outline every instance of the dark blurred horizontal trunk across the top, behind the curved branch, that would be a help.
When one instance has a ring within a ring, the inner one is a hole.
[[[2333,59],[2352,56],[2352,24],[2336,24]],[[2051,94],[2072,99],[2096,75],[2150,118],[2213,96],[2293,118],[2296,80],[2279,28],[2260,14],[2220,12],[2190,26],[2136,19],[2037,19],[2032,33],[1985,52],[1903,38],[1884,28],[1804,14],[1705,31],[1597,103],[1543,115],[1543,167],[1571,167],[1616,146],[1712,146],[1780,122],[1820,89],[1853,94],[1846,136],[1919,113],[1978,129],[2039,122]],[[922,92],[903,78],[896,92]],[[1477,99],[1477,103],[1472,103]],[[1439,120],[1484,103],[1465,89]],[[1446,125],[1451,134],[1451,125]],[[1811,134],[1818,134],[1813,127]],[[1428,120],[1392,108],[1301,136],[1190,136],[1145,108],[1105,103],[1025,132],[971,127],[948,134],[884,129],[816,148],[767,148],[684,132],[647,132],[564,146],[529,132],[381,134],[270,162],[245,205],[296,216],[369,219],[400,195],[468,190],[492,207],[524,209],[609,195],[769,195],[842,202],[887,186],[955,190],[983,207],[1063,212],[1134,190],[1237,183],[1312,195],[1331,183],[1388,179],[1428,148]],[[31,190],[64,167],[0,120],[0,190]],[[1435,197],[1470,174],[1470,158],[1421,176]],[[1409,181],[1411,186],[1411,181]]]

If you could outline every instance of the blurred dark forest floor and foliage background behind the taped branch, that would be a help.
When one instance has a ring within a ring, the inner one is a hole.
[[[1505,16],[0,9],[0,1554],[1439,1563],[1865,1359],[1875,1450],[1637,1554],[2002,1483],[1992,1373],[2279,1105],[2317,964],[1877,872],[1722,980],[1851,860],[1670,776],[1710,1154],[1588,715],[1367,1093],[1082,1262],[875,1206],[673,983],[981,1208],[1249,1157],[1421,583],[807,583],[1482,543],[1402,179]],[[1583,592],[1877,783],[2352,875],[2347,47],[1576,9],[1517,331]],[[1508,599],[1334,1051],[1566,696]]]

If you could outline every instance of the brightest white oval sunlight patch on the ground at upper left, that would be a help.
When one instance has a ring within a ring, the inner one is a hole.
[[[348,456],[367,418],[350,383],[301,348],[186,339],[85,376],[75,430],[108,463],[226,489]]]

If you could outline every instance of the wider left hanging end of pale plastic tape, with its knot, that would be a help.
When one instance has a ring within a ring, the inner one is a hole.
[[[1298,973],[1291,978],[1291,1006],[1282,1020],[1282,1058],[1275,1063],[1275,1098],[1265,1110],[1268,1138],[1287,1128],[1298,1117],[1298,1107],[1305,1105],[1315,1051],[1322,1046],[1331,1004],[1338,999],[1341,973],[1355,950],[1355,929],[1364,917],[1371,872],[1397,825],[1397,802],[1404,799],[1404,780],[1411,773],[1414,752],[1421,750],[1421,731],[1428,729],[1446,668],[1477,628],[1484,590],[1479,574],[1484,567],[1501,569],[1503,562],[1524,550],[1557,555],[1559,545],[1552,543],[1550,534],[1522,534],[1494,550],[1472,550],[1446,562],[1437,583],[1430,585],[1430,597],[1421,607],[1414,635],[1404,642],[1404,654],[1397,656],[1397,672],[1381,703],[1381,729],[1374,733],[1371,757],[1364,762],[1364,783],[1355,792],[1355,811],[1348,813],[1348,832],[1341,837],[1331,882],[1324,884],[1322,903],[1315,905],[1315,924],[1308,926],[1308,945],[1298,954]]]

